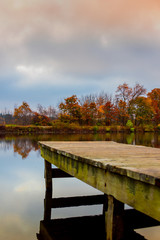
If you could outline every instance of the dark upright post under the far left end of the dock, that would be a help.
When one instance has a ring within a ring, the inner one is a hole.
[[[45,160],[45,200],[44,200],[44,220],[51,219],[52,210],[52,166]]]

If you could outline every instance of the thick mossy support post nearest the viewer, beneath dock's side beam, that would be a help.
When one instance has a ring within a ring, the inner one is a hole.
[[[108,195],[108,209],[105,213],[106,239],[124,239],[124,204]]]

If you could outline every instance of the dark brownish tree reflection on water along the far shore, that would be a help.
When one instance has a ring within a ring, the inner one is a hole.
[[[58,134],[58,135],[28,135],[28,136],[0,136],[0,149],[27,158],[31,151],[39,149],[38,141],[115,141],[119,143],[143,145],[160,148],[160,134],[158,133],[107,133],[107,134]]]

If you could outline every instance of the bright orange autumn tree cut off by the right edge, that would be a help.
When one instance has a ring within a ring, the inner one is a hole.
[[[160,88],[154,88],[147,94],[153,107],[153,121],[156,125],[160,123]]]

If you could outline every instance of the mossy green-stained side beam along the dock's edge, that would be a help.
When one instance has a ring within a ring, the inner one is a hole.
[[[160,188],[88,161],[75,160],[43,147],[42,157],[63,171],[160,221]]]

